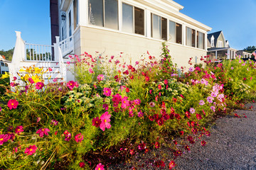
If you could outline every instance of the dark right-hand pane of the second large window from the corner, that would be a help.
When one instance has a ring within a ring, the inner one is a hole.
[[[144,35],[144,10],[134,7],[135,33]]]

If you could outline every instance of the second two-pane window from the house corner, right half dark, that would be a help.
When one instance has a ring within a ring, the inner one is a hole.
[[[144,10],[123,3],[122,30],[127,33],[144,35]]]

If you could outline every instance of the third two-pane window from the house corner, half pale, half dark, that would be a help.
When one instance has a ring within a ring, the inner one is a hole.
[[[167,19],[151,13],[151,37],[167,40]]]

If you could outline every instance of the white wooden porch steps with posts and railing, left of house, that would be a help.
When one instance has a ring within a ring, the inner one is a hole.
[[[26,74],[20,72],[23,67],[35,67],[43,69],[52,69],[51,72],[46,72],[43,75],[45,84],[53,82],[53,79],[62,79],[67,81],[67,66],[63,62],[63,52],[72,50],[73,46],[65,42],[65,47],[62,47],[59,42],[59,37],[56,37],[54,45],[35,45],[28,44],[21,39],[21,32],[16,31],[16,45],[14,48],[14,55],[9,64],[10,81],[17,77],[18,83],[23,86],[21,78],[18,76]],[[52,54],[54,51],[54,55]]]

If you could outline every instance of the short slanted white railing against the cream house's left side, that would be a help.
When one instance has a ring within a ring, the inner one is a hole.
[[[56,40],[56,43],[59,44],[63,56],[68,55],[70,52],[74,51],[73,35],[62,41]]]

